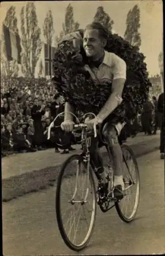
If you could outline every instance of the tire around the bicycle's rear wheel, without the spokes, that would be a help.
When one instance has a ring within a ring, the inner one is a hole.
[[[131,148],[128,146],[128,145],[125,145],[123,144],[121,146],[122,148],[122,152],[124,154],[124,151],[128,151],[132,157],[132,160],[133,160],[133,163],[134,163],[134,166],[135,166],[135,172],[136,172],[136,184],[137,184],[137,189],[136,189],[136,199],[135,199],[135,205],[134,205],[134,208],[133,208],[133,211],[132,211],[132,214],[131,216],[128,218],[126,217],[123,212],[122,212],[122,209],[121,209],[121,201],[117,201],[115,202],[115,208],[117,210],[117,214],[119,215],[119,217],[124,221],[124,222],[131,222],[135,216],[136,216],[136,213],[137,213],[137,208],[138,208],[138,204],[139,204],[139,194],[140,194],[140,188],[139,188],[139,169],[138,169],[138,165],[137,165],[137,161],[136,161],[136,158],[135,158],[135,155],[133,153],[133,151],[131,150]]]

